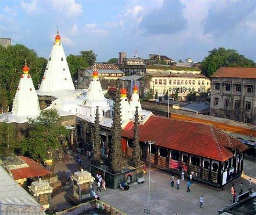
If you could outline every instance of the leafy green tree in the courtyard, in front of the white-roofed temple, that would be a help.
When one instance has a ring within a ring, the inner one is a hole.
[[[23,154],[33,159],[45,160],[47,151],[56,150],[60,140],[68,135],[68,130],[60,125],[56,109],[41,111],[36,119],[29,119],[29,123],[32,128],[21,146]]]

